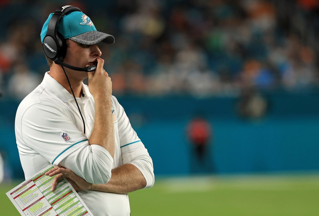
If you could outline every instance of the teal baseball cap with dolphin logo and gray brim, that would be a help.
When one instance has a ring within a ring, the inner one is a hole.
[[[48,25],[53,13],[51,13],[45,21],[41,31],[41,42],[48,31]],[[114,43],[114,37],[110,34],[98,32],[92,20],[80,11],[73,11],[64,15],[58,25],[58,32],[64,39],[70,39],[78,43],[92,45],[99,42],[108,44]]]

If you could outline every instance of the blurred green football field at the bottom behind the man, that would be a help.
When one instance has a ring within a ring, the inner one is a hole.
[[[19,215],[0,185],[1,216]],[[319,175],[223,175],[157,178],[129,194],[131,215],[319,215]],[[97,200],[98,201],[98,200]]]

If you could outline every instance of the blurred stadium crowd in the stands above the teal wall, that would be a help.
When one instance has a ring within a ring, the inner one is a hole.
[[[314,2],[0,1],[0,90],[23,99],[41,83],[48,71],[41,28],[65,4],[115,36],[113,45],[100,45],[115,95],[312,88],[319,84]]]

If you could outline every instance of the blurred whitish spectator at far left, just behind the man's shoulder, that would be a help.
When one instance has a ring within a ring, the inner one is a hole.
[[[31,93],[41,81],[24,63],[18,63],[14,66],[13,70],[14,74],[9,80],[8,89],[12,96],[22,100]]]

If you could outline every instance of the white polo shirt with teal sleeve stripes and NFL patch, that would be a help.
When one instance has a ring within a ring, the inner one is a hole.
[[[114,159],[99,145],[89,145],[94,125],[94,99],[86,85],[77,98],[83,121],[73,96],[47,72],[42,83],[20,103],[15,120],[15,133],[25,177],[49,164],[71,169],[87,182],[108,182],[111,169],[133,164],[146,179],[146,187],[154,184],[153,164],[147,149],[132,129],[122,106],[112,100],[115,133]],[[94,190],[78,191],[95,216],[130,215],[127,194]]]

